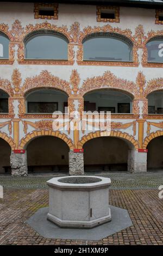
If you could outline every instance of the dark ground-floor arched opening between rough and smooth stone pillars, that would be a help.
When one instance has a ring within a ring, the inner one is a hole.
[[[129,151],[134,146],[117,137],[98,137],[87,141],[84,146],[85,170],[128,169]]]

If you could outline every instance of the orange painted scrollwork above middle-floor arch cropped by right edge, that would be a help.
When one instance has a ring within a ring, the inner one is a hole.
[[[147,96],[149,93],[152,93],[155,90],[159,90],[163,88],[163,78],[155,78],[147,83],[147,87],[145,89],[144,96]]]

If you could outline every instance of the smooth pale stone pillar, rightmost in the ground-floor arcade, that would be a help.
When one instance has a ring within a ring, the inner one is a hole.
[[[128,151],[128,171],[130,173],[147,172],[147,153],[139,153],[135,149]]]

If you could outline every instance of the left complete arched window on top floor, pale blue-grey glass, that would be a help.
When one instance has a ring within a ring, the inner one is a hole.
[[[67,59],[68,40],[65,36],[50,32],[39,32],[25,40],[26,59]]]

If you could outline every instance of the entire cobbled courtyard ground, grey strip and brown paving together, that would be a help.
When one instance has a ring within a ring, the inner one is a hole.
[[[0,199],[0,245],[163,245],[163,204],[158,187],[162,171],[145,174],[87,172],[111,179],[109,204],[127,209],[133,225],[102,240],[45,239],[25,222],[48,206],[46,181],[54,176],[29,174],[23,178],[0,176],[4,198]]]

